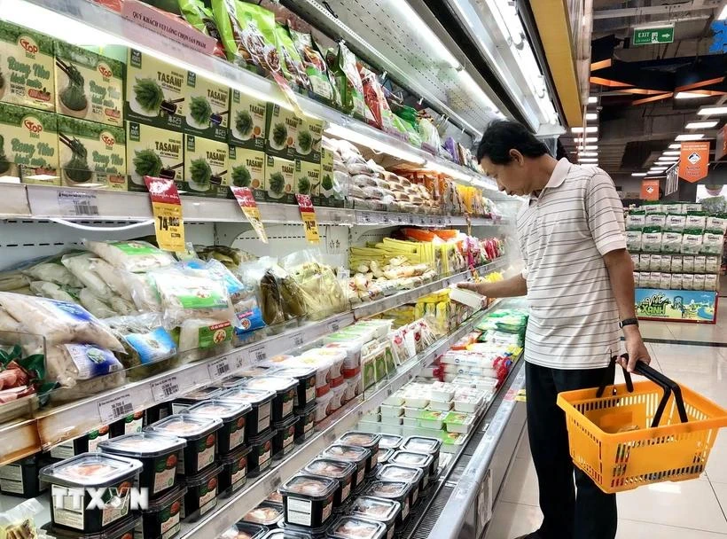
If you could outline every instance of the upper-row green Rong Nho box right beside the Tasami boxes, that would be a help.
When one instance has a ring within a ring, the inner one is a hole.
[[[56,112],[123,128],[126,66],[62,41],[54,51]]]

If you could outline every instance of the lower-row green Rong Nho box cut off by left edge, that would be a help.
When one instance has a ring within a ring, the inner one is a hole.
[[[0,177],[59,185],[58,121],[53,113],[0,103]]]

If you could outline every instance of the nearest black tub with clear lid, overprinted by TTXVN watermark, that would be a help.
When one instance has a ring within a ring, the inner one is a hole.
[[[51,485],[51,499],[62,504],[51,504],[51,523],[93,534],[124,519],[131,505],[129,487],[137,481],[141,468],[138,460],[106,453],[83,453],[45,466],[40,478]],[[116,488],[117,492],[126,492],[126,496],[113,497],[103,509],[89,509],[90,488]],[[80,507],[74,506],[72,497],[66,497],[69,490],[83,498]]]

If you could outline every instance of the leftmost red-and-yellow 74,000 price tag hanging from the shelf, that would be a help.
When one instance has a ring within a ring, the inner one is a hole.
[[[174,180],[144,176],[144,181],[149,190],[149,198],[152,199],[154,231],[159,248],[176,253],[184,252],[186,246],[182,200],[179,199]]]

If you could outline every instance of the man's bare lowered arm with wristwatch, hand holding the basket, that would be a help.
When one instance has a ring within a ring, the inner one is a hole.
[[[604,262],[608,270],[608,280],[611,282],[611,289],[614,291],[616,305],[619,309],[621,320],[636,318],[634,301],[634,264],[626,249],[615,249],[604,254]],[[627,325],[623,328],[623,335],[626,338],[626,351],[629,354],[629,363],[621,366],[626,367],[629,372],[634,371],[638,360],[650,363],[651,357],[646,349],[641,332],[637,325]]]

